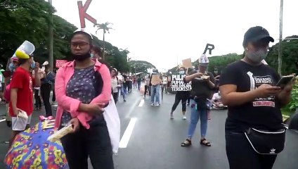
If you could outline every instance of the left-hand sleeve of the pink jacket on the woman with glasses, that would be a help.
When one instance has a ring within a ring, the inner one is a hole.
[[[56,74],[55,80],[55,93],[56,100],[59,103],[59,106],[62,106],[63,109],[67,112],[70,112],[72,118],[77,117],[79,112],[77,109],[79,108],[79,104],[81,101],[77,99],[73,99],[69,96],[66,96],[66,86],[65,86],[65,67],[60,68]]]

